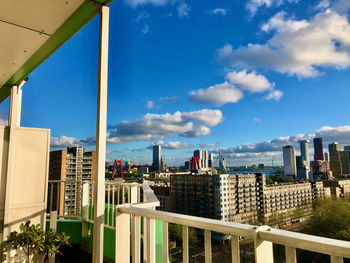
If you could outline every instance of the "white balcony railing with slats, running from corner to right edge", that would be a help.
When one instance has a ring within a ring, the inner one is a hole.
[[[56,182],[57,183],[57,182]],[[61,183],[61,182],[59,182]],[[91,182],[83,182],[82,220],[91,222]],[[87,187],[89,186],[89,187]],[[84,197],[85,195],[85,197]],[[86,206],[87,205],[87,206]],[[155,262],[155,220],[163,222],[163,262],[168,262],[168,224],[182,226],[183,262],[189,262],[189,227],[204,232],[205,262],[212,262],[211,234],[219,232],[230,236],[232,262],[240,262],[239,241],[252,239],[256,263],[273,262],[273,244],[285,246],[286,263],[296,263],[296,249],[308,250],[330,255],[331,263],[343,262],[350,258],[350,242],[306,235],[291,231],[274,229],[269,226],[254,226],[224,222],[202,217],[188,216],[155,210],[159,201],[147,184],[124,184],[106,182],[106,227],[116,231],[116,262]],[[141,233],[143,222],[143,234]],[[143,251],[141,251],[141,240]]]

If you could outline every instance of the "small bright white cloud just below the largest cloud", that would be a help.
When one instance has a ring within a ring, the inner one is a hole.
[[[238,88],[251,92],[263,92],[275,86],[275,83],[270,83],[265,76],[256,74],[255,71],[233,71],[226,74],[226,79]]]

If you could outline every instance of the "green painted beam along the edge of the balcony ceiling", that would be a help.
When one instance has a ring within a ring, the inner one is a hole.
[[[112,0],[85,1],[63,25],[31,56],[16,73],[0,87],[0,103],[10,95],[10,89],[19,85],[41,63],[49,58],[59,47],[73,37],[98,13],[98,6],[93,4],[108,5]]]

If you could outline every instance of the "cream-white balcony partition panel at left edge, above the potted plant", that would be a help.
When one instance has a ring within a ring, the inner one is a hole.
[[[30,220],[44,225],[46,217],[50,130],[15,127],[8,163],[9,127],[0,127],[0,237]],[[8,172],[8,164],[12,165]],[[7,189],[6,189],[7,188]],[[1,226],[2,224],[0,224]]]

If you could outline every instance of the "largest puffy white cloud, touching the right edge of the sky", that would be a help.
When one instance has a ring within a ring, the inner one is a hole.
[[[287,19],[280,12],[262,30],[274,33],[265,44],[237,49],[227,44],[218,51],[218,59],[230,66],[272,69],[298,77],[315,77],[320,68],[350,65],[350,24],[346,16],[331,9],[309,21]]]

